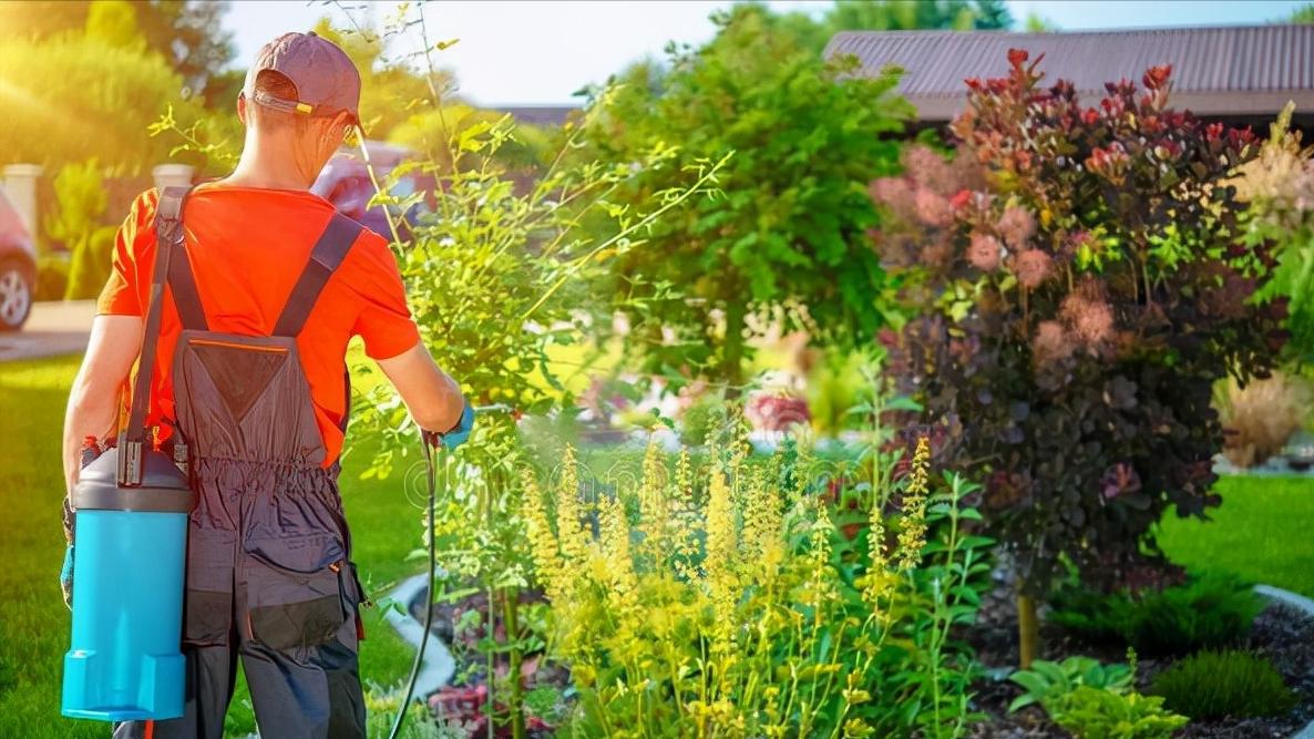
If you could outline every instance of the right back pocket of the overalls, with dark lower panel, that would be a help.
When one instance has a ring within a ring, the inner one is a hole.
[[[247,542],[246,625],[273,650],[314,647],[347,621],[342,544],[325,535]]]

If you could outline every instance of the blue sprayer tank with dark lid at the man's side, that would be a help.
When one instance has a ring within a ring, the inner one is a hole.
[[[109,448],[74,489],[72,640],[60,713],[99,721],[183,715],[183,576],[196,496],[159,451],[118,487]]]

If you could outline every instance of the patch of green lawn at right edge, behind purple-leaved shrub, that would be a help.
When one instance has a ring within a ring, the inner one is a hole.
[[[1213,521],[1169,514],[1159,543],[1192,571],[1222,571],[1314,597],[1314,480],[1223,477]]]

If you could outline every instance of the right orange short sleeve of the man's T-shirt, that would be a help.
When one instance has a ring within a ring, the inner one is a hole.
[[[365,343],[371,359],[390,359],[419,342],[419,329],[406,305],[397,259],[384,239],[365,231],[356,246],[363,259],[352,283],[361,302],[352,334]]]

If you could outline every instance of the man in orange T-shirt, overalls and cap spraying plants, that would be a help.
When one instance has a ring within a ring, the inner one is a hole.
[[[181,205],[148,419],[163,444],[185,443],[198,497],[187,713],[121,723],[116,738],[219,739],[238,657],[264,736],[365,735],[363,593],[336,487],[347,342],[361,337],[415,422],[448,446],[469,434],[473,414],[420,343],[386,242],[307,191],[359,125],[359,99],[360,75],[335,45],[313,33],[273,39],[237,101],[246,126],[237,168]],[[70,490],[84,439],[112,438],[142,350],[159,204],[155,191],[142,193],[118,231],[68,400]]]

